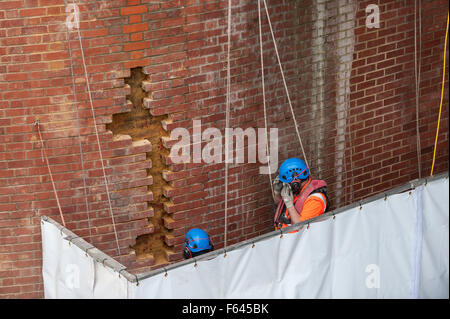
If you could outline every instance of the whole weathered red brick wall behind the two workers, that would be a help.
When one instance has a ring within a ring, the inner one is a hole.
[[[131,271],[179,260],[191,227],[207,230],[215,247],[224,245],[224,164],[171,164],[168,137],[176,127],[192,130],[198,119],[204,129],[223,133],[227,2],[80,2],[83,53],[121,256],[75,30],[70,36],[79,102],[73,103],[64,1],[1,2],[1,297],[43,296],[39,220],[60,220],[33,125],[37,118],[67,228]],[[414,2],[267,2],[311,171],[328,182],[333,207],[417,178]],[[424,177],[431,169],[448,3],[422,2]],[[365,27],[365,8],[372,3],[380,7],[379,29]],[[263,24],[268,122],[279,129],[281,163],[301,151],[264,15]],[[254,1],[233,1],[232,33],[230,126],[264,127]],[[138,86],[129,78],[136,67],[145,74],[139,82],[142,105],[132,102]],[[446,79],[435,173],[448,170],[448,71]],[[228,245],[271,230],[269,179],[259,166],[229,166]]]

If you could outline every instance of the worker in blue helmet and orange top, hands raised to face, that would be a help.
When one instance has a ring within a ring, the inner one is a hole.
[[[275,229],[319,216],[329,206],[327,183],[312,179],[308,166],[298,158],[289,158],[281,164],[273,190],[278,204]]]

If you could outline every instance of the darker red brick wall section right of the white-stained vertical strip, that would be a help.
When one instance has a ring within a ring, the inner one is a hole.
[[[426,177],[431,172],[439,114],[448,2],[422,2],[419,132],[421,176]],[[360,8],[370,3],[361,2]],[[355,28],[358,52],[352,68],[349,119],[354,200],[419,177],[414,1],[380,1],[379,6],[380,29],[365,27],[362,10]],[[443,102],[434,173],[448,170],[448,68]]]

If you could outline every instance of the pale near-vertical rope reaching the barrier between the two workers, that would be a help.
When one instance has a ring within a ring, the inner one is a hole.
[[[225,238],[224,248],[227,247],[228,233],[228,148],[229,148],[229,126],[230,126],[230,46],[231,46],[231,0],[228,0],[228,45],[227,45],[227,102],[225,112]]]

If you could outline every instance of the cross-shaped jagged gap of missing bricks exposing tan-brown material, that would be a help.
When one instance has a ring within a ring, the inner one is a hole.
[[[166,115],[152,116],[148,109],[144,108],[143,99],[147,92],[143,89],[147,81],[147,75],[143,73],[141,67],[131,69],[129,78],[125,78],[125,83],[130,86],[130,95],[127,95],[127,103],[132,104],[131,110],[126,113],[113,115],[111,124],[107,129],[114,135],[130,135],[133,141],[147,139],[152,144],[152,151],[148,152],[147,160],[151,160],[151,168],[147,169],[147,176],[152,176],[153,183],[148,187],[153,193],[153,200],[148,202],[154,210],[153,217],[148,219],[147,227],[153,229],[149,234],[140,235],[136,238],[136,244],[131,247],[136,253],[138,261],[154,260],[149,264],[154,267],[168,262],[167,253],[172,248],[167,246],[164,238],[171,233],[164,226],[164,217],[167,213],[164,210],[164,202],[168,199],[163,195],[163,187],[167,182],[162,178],[162,172],[167,168],[164,163],[164,156],[169,150],[163,147],[161,137],[167,136],[161,121],[167,119]]]

